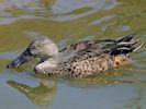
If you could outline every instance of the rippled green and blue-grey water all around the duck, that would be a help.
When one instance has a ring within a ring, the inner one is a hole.
[[[5,65],[31,40],[48,36],[60,48],[82,39],[136,33],[146,43],[146,0],[0,0],[0,109],[146,109],[146,45],[133,63],[93,77],[35,76],[35,60]]]

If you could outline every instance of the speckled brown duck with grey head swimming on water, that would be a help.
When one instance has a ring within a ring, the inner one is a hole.
[[[40,61],[34,66],[37,74],[87,77],[130,64],[130,53],[142,45],[139,39],[134,39],[134,35],[126,35],[117,39],[82,40],[59,50],[52,39],[40,38],[33,40],[7,68],[15,69],[37,58]]]

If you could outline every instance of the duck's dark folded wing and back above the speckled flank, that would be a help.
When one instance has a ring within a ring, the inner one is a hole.
[[[83,48],[81,46],[83,45]],[[76,55],[67,61],[80,61],[102,55],[119,56],[127,55],[141,48],[142,43],[133,39],[133,35],[124,36],[119,39],[104,39],[94,41],[81,41],[72,45],[68,50],[76,51]],[[77,49],[78,48],[78,49]]]

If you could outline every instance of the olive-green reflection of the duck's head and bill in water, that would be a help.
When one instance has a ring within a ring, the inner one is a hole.
[[[31,87],[15,81],[8,81],[7,83],[38,106],[48,106],[56,94],[56,82],[54,80],[40,80],[37,87]]]

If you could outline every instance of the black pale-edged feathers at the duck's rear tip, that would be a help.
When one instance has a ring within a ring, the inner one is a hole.
[[[134,35],[128,35],[116,39],[114,46],[110,47],[111,55],[128,55],[139,49],[143,45],[142,41],[133,37]]]

